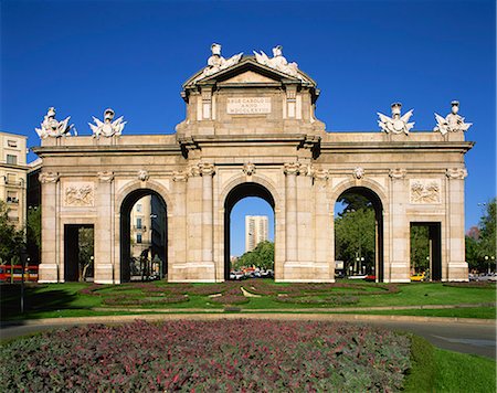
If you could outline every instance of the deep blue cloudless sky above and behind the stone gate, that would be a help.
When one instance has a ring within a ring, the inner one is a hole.
[[[474,123],[466,139],[476,141],[466,156],[466,227],[478,222],[477,204],[496,194],[495,1],[0,7],[0,129],[29,136],[30,146],[39,144],[34,127],[49,106],[57,118],[72,116],[80,134],[89,135],[87,121],[107,107],[125,116],[125,134],[173,132],[184,117],[181,84],[205,65],[212,42],[225,57],[282,44],[287,60],[317,81],[317,116],[330,131],[378,132],[377,111],[389,113],[396,100],[414,108],[414,130],[431,130],[433,113],[445,116],[458,99]],[[243,252],[240,237],[233,254]]]

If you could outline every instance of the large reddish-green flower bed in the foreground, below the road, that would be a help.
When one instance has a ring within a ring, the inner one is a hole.
[[[380,328],[268,320],[145,321],[0,349],[4,392],[396,391],[410,341]]]

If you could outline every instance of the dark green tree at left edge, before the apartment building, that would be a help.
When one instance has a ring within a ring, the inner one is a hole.
[[[24,246],[24,233],[9,221],[9,206],[0,201],[0,259],[10,264],[19,258]]]

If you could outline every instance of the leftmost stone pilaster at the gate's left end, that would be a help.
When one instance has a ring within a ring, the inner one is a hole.
[[[59,283],[63,280],[60,266],[60,229],[57,223],[59,173],[40,173],[41,183],[41,264],[39,283]]]

